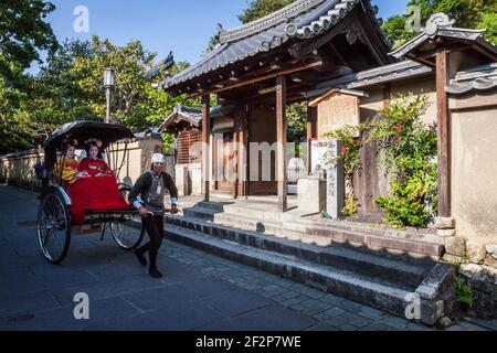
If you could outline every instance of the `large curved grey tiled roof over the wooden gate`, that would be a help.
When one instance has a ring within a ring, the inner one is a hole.
[[[220,46],[195,65],[167,79],[163,88],[186,83],[239,61],[268,52],[292,38],[311,38],[338,24],[369,0],[297,0],[288,7],[241,28],[221,31]]]

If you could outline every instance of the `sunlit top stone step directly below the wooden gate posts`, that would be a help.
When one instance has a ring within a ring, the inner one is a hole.
[[[202,206],[201,206],[202,205]],[[221,212],[214,204],[205,206],[201,203],[191,208],[183,208],[183,214],[203,221],[211,221],[229,226],[250,231],[258,231],[266,234],[288,237],[304,243],[316,243],[321,246],[339,243],[363,253],[381,253],[382,256],[403,258],[405,261],[437,260],[443,255],[444,245],[435,242],[426,242],[411,238],[402,238],[399,234],[389,236],[380,233],[370,233],[369,229],[324,225],[322,223],[305,222],[302,218],[294,221],[261,220],[252,217],[250,212],[239,215]],[[204,207],[205,206],[205,207]]]

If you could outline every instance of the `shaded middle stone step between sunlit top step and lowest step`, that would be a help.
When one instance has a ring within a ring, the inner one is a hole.
[[[394,282],[405,290],[414,290],[422,282],[426,272],[434,266],[433,263],[408,264],[358,253],[340,246],[321,247],[314,244],[305,244],[187,216],[167,216],[167,223],[223,240],[239,243],[243,246],[289,255],[317,266],[334,266],[340,270],[353,271],[358,275],[374,277],[378,280]]]

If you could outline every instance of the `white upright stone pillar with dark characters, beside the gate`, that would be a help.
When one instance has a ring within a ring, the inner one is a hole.
[[[328,158],[336,158],[341,149],[339,140],[328,141]],[[329,164],[326,170],[326,208],[332,218],[341,215],[345,205],[345,173],[343,162],[339,161],[335,165]]]

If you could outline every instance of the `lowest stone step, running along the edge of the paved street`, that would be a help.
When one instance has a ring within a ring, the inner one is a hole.
[[[318,266],[297,257],[245,246],[181,226],[167,225],[166,233],[170,239],[200,250],[260,268],[398,317],[405,315],[405,308],[409,304],[406,298],[410,292],[394,285],[381,284],[345,269]]]

